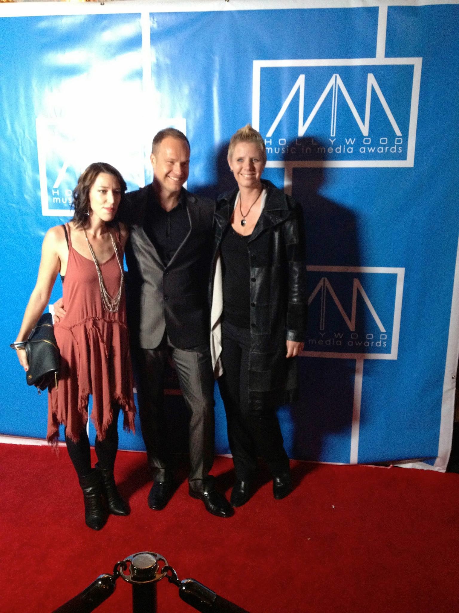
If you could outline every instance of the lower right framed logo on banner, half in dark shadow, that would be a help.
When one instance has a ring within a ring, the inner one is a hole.
[[[308,266],[302,355],[396,360],[405,268]]]

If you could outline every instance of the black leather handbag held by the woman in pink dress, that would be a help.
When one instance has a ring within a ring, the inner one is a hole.
[[[29,334],[24,349],[29,363],[29,370],[26,372],[28,385],[46,389],[54,383],[57,387],[61,354],[54,337],[51,313],[43,313]]]

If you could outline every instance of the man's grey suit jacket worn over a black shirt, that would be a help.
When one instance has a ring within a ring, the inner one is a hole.
[[[183,189],[183,188],[182,188]],[[165,330],[179,349],[209,344],[207,287],[215,204],[183,189],[190,231],[167,266],[145,232],[155,194],[152,185],[127,194],[121,221],[130,226],[125,254],[127,316],[133,343],[154,349]]]

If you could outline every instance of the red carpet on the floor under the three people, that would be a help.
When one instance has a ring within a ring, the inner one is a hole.
[[[114,563],[162,554],[179,578],[194,577],[252,613],[442,613],[459,610],[459,475],[402,468],[293,462],[296,484],[272,498],[260,489],[230,519],[213,517],[182,482],[163,511],[147,508],[145,455],[119,452],[116,477],[129,517],[100,532],[65,448],[0,444],[2,612],[48,612]],[[232,462],[215,459],[218,486]],[[159,613],[193,611],[165,580]],[[97,611],[129,613],[130,585],[117,582]]]

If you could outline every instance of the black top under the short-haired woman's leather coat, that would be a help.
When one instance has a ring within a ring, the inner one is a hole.
[[[250,328],[250,262],[247,236],[228,226],[220,246],[223,274],[223,319]]]

